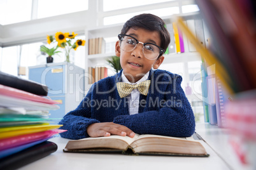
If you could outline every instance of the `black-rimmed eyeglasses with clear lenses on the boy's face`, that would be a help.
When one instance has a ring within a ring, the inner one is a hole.
[[[155,60],[164,53],[164,49],[160,46],[151,42],[139,42],[136,38],[126,34],[118,34],[118,39],[120,40],[120,48],[127,52],[134,50],[137,44],[143,44],[142,52],[148,60]]]

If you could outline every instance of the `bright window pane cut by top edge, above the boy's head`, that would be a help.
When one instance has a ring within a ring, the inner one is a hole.
[[[155,4],[155,3],[164,3],[168,1],[174,0],[129,0],[125,1],[125,3],[120,3],[120,0],[104,0],[103,1],[103,11],[112,11],[112,10],[120,10],[123,8],[131,8],[134,6],[142,6],[146,4]]]

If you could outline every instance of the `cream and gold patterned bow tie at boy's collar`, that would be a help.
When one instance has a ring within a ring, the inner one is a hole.
[[[131,94],[132,89],[138,89],[141,95],[148,95],[148,88],[150,86],[150,81],[143,81],[139,84],[129,84],[126,82],[117,82],[117,91],[120,98],[124,98]]]

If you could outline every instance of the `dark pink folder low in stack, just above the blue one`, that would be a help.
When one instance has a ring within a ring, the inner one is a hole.
[[[27,143],[31,143],[34,141],[50,138],[54,134],[62,133],[64,131],[66,130],[53,129],[53,130],[43,131],[39,133],[24,134],[20,136],[14,136],[11,138],[5,138],[3,140],[0,140],[0,151],[6,150],[8,148],[18,147],[20,145],[25,145]]]

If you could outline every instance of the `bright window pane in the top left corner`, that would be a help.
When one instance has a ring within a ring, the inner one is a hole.
[[[32,0],[0,1],[0,24],[31,20]]]

